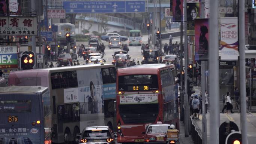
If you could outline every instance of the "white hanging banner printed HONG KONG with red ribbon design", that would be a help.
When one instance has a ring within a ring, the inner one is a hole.
[[[220,18],[221,60],[238,60],[238,22],[237,17]]]

